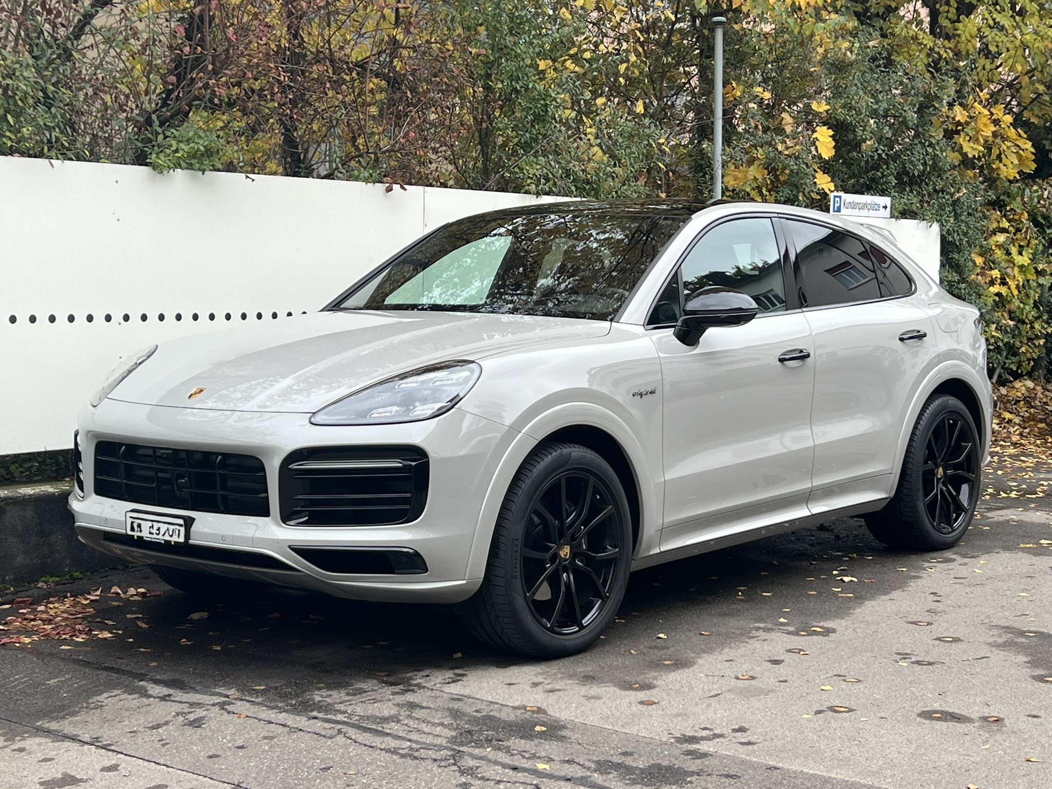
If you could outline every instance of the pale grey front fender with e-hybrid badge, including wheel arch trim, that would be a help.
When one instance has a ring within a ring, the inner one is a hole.
[[[636,557],[658,548],[661,526],[661,367],[641,327],[572,346],[542,345],[485,359],[483,375],[459,408],[513,428],[519,437],[498,465],[479,517],[468,578],[482,578],[501,504],[530,452],[555,430],[605,430],[632,466],[640,494]]]

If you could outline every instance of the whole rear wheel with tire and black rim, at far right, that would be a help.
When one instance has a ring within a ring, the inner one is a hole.
[[[895,494],[884,509],[864,515],[870,533],[892,548],[956,545],[978,503],[980,452],[965,404],[949,394],[931,397],[910,434]]]

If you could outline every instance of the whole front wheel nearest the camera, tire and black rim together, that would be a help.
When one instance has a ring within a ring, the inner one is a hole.
[[[576,444],[543,445],[508,488],[464,622],[498,649],[582,652],[618,612],[631,554],[628,500],[610,464]]]

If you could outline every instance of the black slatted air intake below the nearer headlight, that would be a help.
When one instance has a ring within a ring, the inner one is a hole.
[[[420,518],[427,454],[417,447],[298,449],[281,465],[281,520],[289,526],[386,526]]]

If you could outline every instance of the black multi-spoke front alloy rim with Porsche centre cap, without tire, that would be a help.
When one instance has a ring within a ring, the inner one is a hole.
[[[599,615],[618,578],[621,524],[603,480],[573,470],[534,500],[521,552],[523,591],[549,632],[581,632]]]

